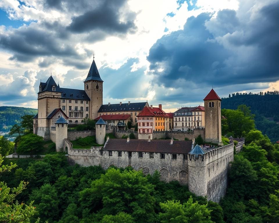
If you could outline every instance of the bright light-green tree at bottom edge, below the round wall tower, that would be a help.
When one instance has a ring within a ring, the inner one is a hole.
[[[160,202],[163,213],[159,213],[161,223],[213,223],[210,218],[210,210],[207,205],[193,202],[192,196],[189,200],[180,204],[180,201]]]

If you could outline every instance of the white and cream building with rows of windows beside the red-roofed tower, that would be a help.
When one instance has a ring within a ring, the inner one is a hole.
[[[204,107],[182,107],[174,112],[174,131],[188,131],[204,128]]]

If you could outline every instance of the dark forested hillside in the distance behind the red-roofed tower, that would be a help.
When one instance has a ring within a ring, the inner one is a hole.
[[[233,93],[222,98],[222,108],[237,109],[247,105],[255,114],[255,125],[272,142],[279,140],[279,91],[253,93]]]

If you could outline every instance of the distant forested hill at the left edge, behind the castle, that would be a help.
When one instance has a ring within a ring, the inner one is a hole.
[[[21,121],[21,116],[35,115],[37,112],[34,108],[0,106],[0,131],[9,131],[12,125]]]

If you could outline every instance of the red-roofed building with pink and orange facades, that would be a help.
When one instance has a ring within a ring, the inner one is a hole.
[[[142,112],[137,115],[139,139],[152,139],[153,131],[168,131],[169,130],[169,115],[162,110],[162,105],[158,108],[144,107]]]

